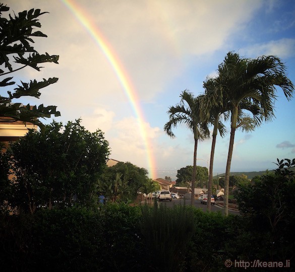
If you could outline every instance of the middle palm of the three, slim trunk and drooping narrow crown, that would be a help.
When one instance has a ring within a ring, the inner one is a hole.
[[[209,178],[208,178],[208,196],[212,194],[212,184],[213,184],[213,162],[214,153],[216,145],[217,132],[221,137],[225,135],[225,126],[220,121],[223,116],[224,120],[228,118],[228,109],[225,103],[220,103],[220,98],[217,96],[216,92],[216,82],[214,79],[207,79],[203,87],[205,88],[205,95],[202,97],[201,103],[201,114],[204,115],[203,119],[208,119],[208,122],[213,125],[212,132],[212,146],[210,154],[210,166],[209,166]],[[217,188],[218,189],[218,188]],[[208,197],[207,210],[211,211],[211,197]]]

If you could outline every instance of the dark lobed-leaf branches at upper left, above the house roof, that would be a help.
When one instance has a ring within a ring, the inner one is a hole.
[[[34,47],[34,37],[47,37],[41,31],[35,31],[40,28],[41,24],[38,20],[39,16],[45,12],[31,9],[29,11],[20,12],[18,15],[9,15],[3,17],[3,13],[9,11],[9,7],[0,4],[0,77],[9,75],[15,71],[25,67],[31,67],[40,71],[40,63],[53,62],[58,63],[58,55],[49,55],[48,53],[39,54]],[[2,70],[4,69],[4,70]],[[46,118],[52,114],[60,116],[60,112],[56,111],[56,106],[43,105],[30,106],[16,103],[15,100],[24,96],[39,97],[40,89],[57,82],[57,78],[36,80],[30,83],[21,82],[16,84],[12,81],[13,77],[5,77],[0,81],[0,87],[7,92],[7,95],[0,96],[0,122],[7,119],[1,116],[12,118],[11,121],[22,120],[29,121],[34,124],[42,125],[38,117]],[[14,90],[9,90],[14,86]]]

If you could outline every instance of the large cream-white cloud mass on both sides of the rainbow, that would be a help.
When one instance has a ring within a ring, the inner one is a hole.
[[[175,92],[190,87],[196,91],[196,85],[202,86],[206,75],[216,75],[214,71],[223,60],[225,48],[227,51],[236,47],[234,41],[251,31],[247,23],[255,21],[255,13],[269,3],[262,0],[74,2],[93,20],[96,30],[122,63],[121,72],[129,77],[137,93],[136,103],[150,107],[148,112],[153,117],[144,112],[148,121],[143,125],[158,165],[177,169],[191,165],[193,137],[186,138],[190,131],[186,129],[182,138],[181,132],[175,131],[177,138],[173,141],[162,137],[162,127],[167,121],[166,104],[170,99],[172,105],[179,102],[179,93]],[[36,38],[35,45],[40,52],[59,54],[60,64],[49,63],[40,73],[23,70],[19,74],[29,79],[60,78],[58,83],[42,90],[36,103],[57,105],[63,122],[82,117],[87,129],[100,128],[105,132],[111,158],[147,167],[145,140],[138,120],[132,117],[137,113],[126,90],[97,42],[71,11],[60,0],[4,0],[4,3],[16,13],[31,8],[50,12],[40,18],[41,30],[48,38]],[[257,43],[255,37],[256,44],[244,49],[247,56],[287,57],[295,51],[293,39]],[[238,48],[243,47],[242,40]],[[222,56],[218,55],[221,51]],[[156,108],[155,104],[160,106]],[[237,144],[246,140],[243,138]],[[222,145],[225,140],[219,141]],[[200,143],[198,157],[209,157],[208,143]],[[219,153],[216,149],[216,162],[221,157],[226,163],[227,146],[226,141],[226,147],[219,147]]]

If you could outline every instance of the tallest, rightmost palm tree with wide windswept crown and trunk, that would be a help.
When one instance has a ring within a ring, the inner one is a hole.
[[[287,100],[291,99],[294,86],[286,76],[285,65],[275,56],[248,59],[241,58],[237,53],[228,52],[217,72],[218,93],[230,111],[230,141],[224,188],[224,213],[228,215],[229,173],[239,112],[251,112],[256,125],[270,121],[275,117],[273,108],[276,86],[283,90]]]

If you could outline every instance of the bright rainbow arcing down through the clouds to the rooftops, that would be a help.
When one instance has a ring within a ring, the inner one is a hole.
[[[102,50],[107,60],[109,61],[116,77],[125,91],[125,94],[131,104],[131,107],[137,116],[142,139],[145,143],[147,163],[150,169],[149,175],[151,178],[156,178],[156,163],[152,154],[151,144],[148,141],[147,132],[144,125],[144,114],[139,104],[137,93],[132,86],[127,72],[124,69],[119,57],[115,54],[110,44],[103,37],[102,33],[98,30],[97,26],[91,22],[89,14],[86,14],[81,7],[77,5],[73,0],[61,0],[62,3],[72,12],[79,23],[86,29],[90,36],[94,39],[95,43]]]

